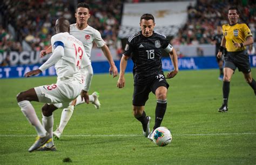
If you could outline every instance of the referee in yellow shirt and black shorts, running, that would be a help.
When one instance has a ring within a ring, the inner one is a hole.
[[[256,83],[252,78],[250,59],[246,47],[253,44],[252,32],[244,23],[238,23],[239,11],[236,7],[228,9],[229,24],[222,26],[224,37],[221,40],[218,58],[221,58],[224,49],[227,55],[224,57],[224,78],[223,78],[223,105],[219,112],[227,112],[228,95],[230,93],[230,81],[235,69],[244,74],[246,82],[252,87],[256,95]]]

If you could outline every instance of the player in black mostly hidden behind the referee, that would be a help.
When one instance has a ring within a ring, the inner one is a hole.
[[[216,56],[216,60],[217,60],[217,63],[219,65],[219,69],[220,69],[220,75],[219,75],[219,80],[223,80],[223,59],[221,58],[218,58],[217,57],[217,54],[219,52],[219,48],[220,48],[220,43],[221,43],[221,39],[223,37],[223,34],[222,34],[222,30],[221,30],[221,26],[217,26],[217,34],[213,36],[212,38],[212,41],[214,42],[215,44],[215,56]]]

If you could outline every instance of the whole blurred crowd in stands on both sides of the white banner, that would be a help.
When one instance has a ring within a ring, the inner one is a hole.
[[[122,52],[122,48],[120,48],[121,44],[117,44],[119,40],[117,34],[123,2],[98,0],[89,3],[91,8],[89,25],[99,30],[110,48],[115,48],[119,52]],[[196,5],[189,5],[187,23],[179,30],[178,35],[174,36],[171,43],[173,45],[210,44],[216,26],[227,23],[226,9],[231,6],[230,2],[198,0]],[[234,0],[232,5],[238,6],[241,13],[240,20],[250,27],[255,40],[255,3],[249,0]],[[53,25],[57,18],[63,16],[71,23],[76,22],[75,7],[76,5],[71,5],[66,0],[4,1],[0,5],[0,52],[45,49],[50,45],[50,38],[54,34]]]

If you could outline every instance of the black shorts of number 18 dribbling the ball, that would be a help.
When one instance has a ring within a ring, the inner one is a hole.
[[[158,74],[147,80],[144,85],[134,85],[132,96],[133,106],[144,106],[147,99],[149,99],[149,93],[153,92],[155,94],[158,87],[164,86],[167,89],[169,88],[169,84],[163,74]]]

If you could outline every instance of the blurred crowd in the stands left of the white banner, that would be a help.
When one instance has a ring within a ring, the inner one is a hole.
[[[76,22],[75,8],[65,0],[4,1],[0,5],[0,52],[45,49],[50,45],[57,18]],[[93,1],[90,8],[89,25],[99,30],[109,47],[116,48],[122,1]]]

